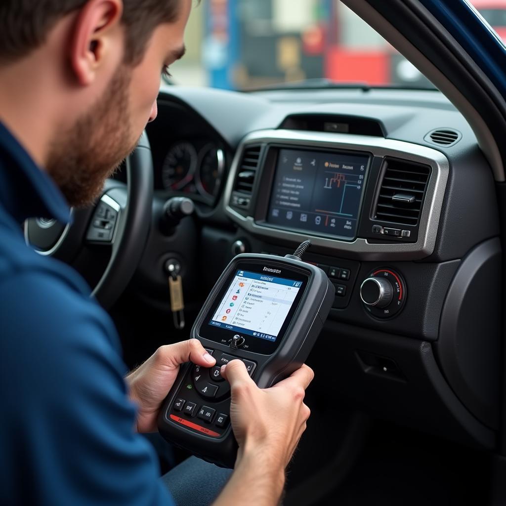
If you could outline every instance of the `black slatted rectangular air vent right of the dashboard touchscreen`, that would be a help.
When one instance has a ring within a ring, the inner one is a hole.
[[[385,158],[374,219],[416,226],[430,175],[428,165]]]

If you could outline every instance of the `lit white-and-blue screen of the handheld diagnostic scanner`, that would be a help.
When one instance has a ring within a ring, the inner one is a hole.
[[[238,270],[208,324],[276,341],[303,284]]]

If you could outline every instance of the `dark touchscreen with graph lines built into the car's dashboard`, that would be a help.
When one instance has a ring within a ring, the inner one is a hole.
[[[281,149],[267,222],[353,239],[367,155]]]

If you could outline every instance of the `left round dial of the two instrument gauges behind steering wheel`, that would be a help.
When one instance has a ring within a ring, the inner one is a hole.
[[[168,150],[161,170],[163,187],[182,190],[193,181],[197,167],[197,152],[189,142],[179,142]]]

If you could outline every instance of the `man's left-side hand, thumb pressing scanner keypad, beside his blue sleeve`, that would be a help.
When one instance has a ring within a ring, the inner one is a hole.
[[[180,364],[188,361],[204,367],[212,367],[216,363],[198,339],[190,339],[161,346],[146,362],[126,376],[130,398],[139,406],[138,432],[156,432],[156,418],[161,403],[174,384]]]

